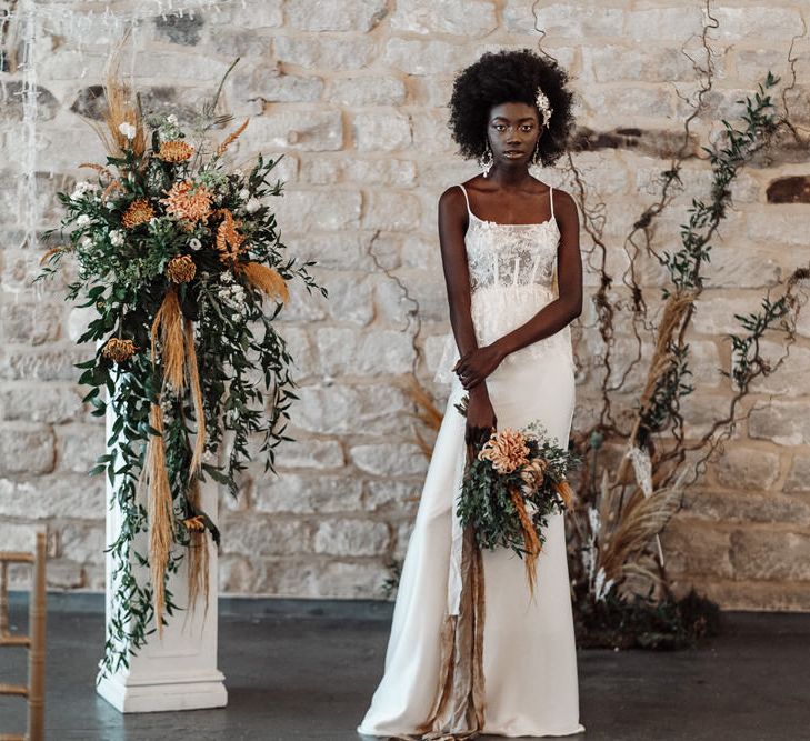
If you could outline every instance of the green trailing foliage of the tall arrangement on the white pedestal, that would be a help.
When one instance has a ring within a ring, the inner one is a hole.
[[[189,543],[183,520],[200,515],[219,542],[212,520],[188,497],[193,483],[189,471],[193,440],[201,420],[188,389],[167,384],[160,339],[154,358],[150,351],[150,330],[164,297],[177,291],[183,320],[193,322],[207,431],[199,478],[210,478],[236,495],[238,475],[251,458],[253,440],[260,441],[266,471],[274,471],[276,449],[290,439],[284,431],[297,398],[292,358],[274,324],[282,304],[270,306],[243,267],[259,263],[287,283],[301,281],[309,293],[327,294],[309,273],[313,263],[301,263],[286,253],[267,204],[282,192],[280,181],[271,182],[278,160],[259,156],[247,174],[229,172],[219,153],[201,156],[204,142],[200,141],[193,159],[164,161],[158,156],[161,143],[182,141],[183,133],[174,117],[152,117],[149,123],[150,149],[136,154],[127,148],[122,157],[107,158],[107,167],[118,172],[117,187],[104,177],[96,183],[80,183],[71,194],[58,194],[64,208],[59,233],[67,243],[49,256],[41,276],[59,270],[66,258],[72,259],[77,273],[67,300],[93,309],[79,341],[97,344],[94,357],[79,363],[79,382],[89,387],[84,401],[93,407],[92,413],[103,417],[110,403],[114,418],[107,453],[91,471],[108,477],[114,488],[114,507],[122,513],[120,534],[109,545],[117,598],[107,631],[106,672],[127,667],[129,657],[156,629],[153,584],[146,568],[149,523],[139,487],[146,444],[158,434],[149,422],[152,404],[160,404],[164,420],[174,521],[176,547],[164,579],[177,572]],[[210,208],[202,209],[207,213],[194,218],[172,209],[167,194],[183,182],[191,183],[191,192],[209,198]],[[132,226],[124,214],[136,201],[146,201],[152,217]],[[224,213],[232,216],[242,240],[231,257],[218,244],[218,224]],[[194,276],[176,283],[167,276],[167,266],[180,256],[193,262]],[[104,347],[111,338],[131,340],[134,354],[110,359]],[[166,608],[169,615],[180,609],[168,592]]]

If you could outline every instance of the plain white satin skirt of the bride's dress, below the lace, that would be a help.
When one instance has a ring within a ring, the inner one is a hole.
[[[570,356],[501,363],[487,379],[498,428],[539,420],[564,448],[574,403]],[[358,732],[414,733],[436,700],[440,637],[453,600],[454,500],[466,455],[466,394],[456,378],[428,468],[402,565],[384,674]],[[483,551],[484,733],[556,737],[584,731],[579,687],[563,514],[549,518],[530,597],[523,561],[507,549]]]

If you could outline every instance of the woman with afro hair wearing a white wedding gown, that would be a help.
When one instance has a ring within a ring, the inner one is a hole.
[[[439,239],[453,337],[438,378],[450,398],[408,544],[384,675],[362,734],[429,733],[439,692],[441,630],[458,589],[454,500],[468,442],[497,424],[539,420],[563,448],[574,404],[568,324],[582,307],[573,199],[537,180],[572,127],[558,64],[529,50],[486,53],[456,78],[450,126],[482,173],[439,200]],[[454,373],[454,374],[453,374]],[[469,397],[467,418],[456,405]],[[579,687],[562,513],[548,521],[534,595],[522,561],[483,552],[483,708],[488,734],[569,735]]]

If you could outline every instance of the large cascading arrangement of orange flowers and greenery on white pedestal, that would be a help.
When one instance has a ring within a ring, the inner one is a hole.
[[[108,403],[114,413],[107,454],[91,471],[109,477],[123,514],[110,544],[118,599],[103,671],[128,665],[154,630],[150,621],[162,632],[177,608],[168,574],[182,558],[191,604],[200,590],[208,597],[206,538],[218,543],[219,533],[200,507],[200,482],[210,477],[236,495],[256,439],[273,470],[296,398],[292,358],[273,320],[292,280],[326,296],[308,272],[312,262],[284,256],[266,203],[281,193],[269,181],[276,161],[259,156],[248,172],[226,167],[248,121],[210,141],[230,120],[214,114],[219,90],[191,139],[177,117],[144,116],[109,74],[104,126],[96,127],[106,164],[82,164],[96,180],[58,194],[67,241],[43,258],[42,277],[62,262],[78,269],[67,299],[92,310],[79,341],[97,343],[79,381],[90,387],[93,414]]]

